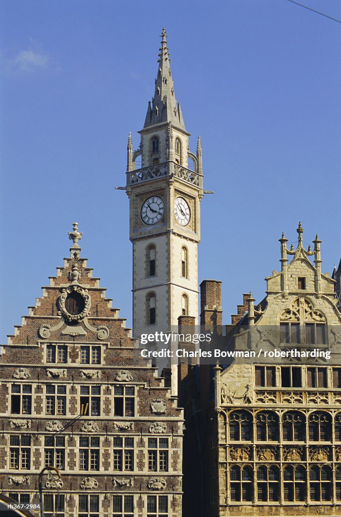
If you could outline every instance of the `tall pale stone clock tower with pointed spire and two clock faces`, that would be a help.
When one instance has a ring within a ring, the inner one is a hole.
[[[166,31],[161,34],[154,97],[141,143],[128,139],[127,186],[133,243],[133,333],[177,332],[178,317],[198,324],[201,143],[189,148],[174,91]]]

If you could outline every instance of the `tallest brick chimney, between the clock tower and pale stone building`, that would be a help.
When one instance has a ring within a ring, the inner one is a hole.
[[[200,284],[200,325],[222,325],[222,283],[220,280],[203,280]]]

